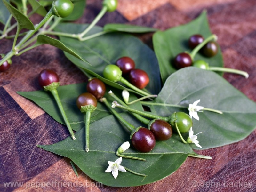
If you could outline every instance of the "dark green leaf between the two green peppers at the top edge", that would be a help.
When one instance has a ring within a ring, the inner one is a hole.
[[[74,2],[73,12],[68,17],[64,17],[61,21],[75,21],[79,19],[84,14],[85,6],[85,0]]]

